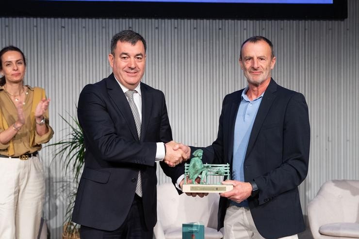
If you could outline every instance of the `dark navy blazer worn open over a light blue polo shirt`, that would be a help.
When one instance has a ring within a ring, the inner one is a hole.
[[[234,125],[242,92],[224,98],[218,136],[211,146],[203,148],[203,161],[232,165]],[[254,121],[244,162],[245,182],[255,181],[260,189],[257,197],[248,198],[248,203],[254,223],[265,238],[305,230],[298,185],[307,176],[309,147],[310,124],[304,96],[271,79]],[[227,198],[221,197],[218,229],[223,227],[227,207]]]

